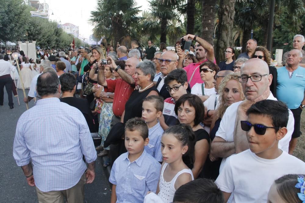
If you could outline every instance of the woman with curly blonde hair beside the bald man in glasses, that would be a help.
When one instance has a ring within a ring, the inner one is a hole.
[[[210,139],[213,141],[216,132],[220,126],[220,122],[224,112],[232,103],[239,102],[245,99],[242,91],[241,83],[238,81],[239,73],[226,75],[219,86],[219,107],[213,116],[211,123]],[[210,153],[210,159],[207,160],[206,178],[216,180],[219,175],[219,168],[222,158],[216,159]],[[205,170],[204,170],[205,171]],[[209,175],[208,175],[209,174]]]

